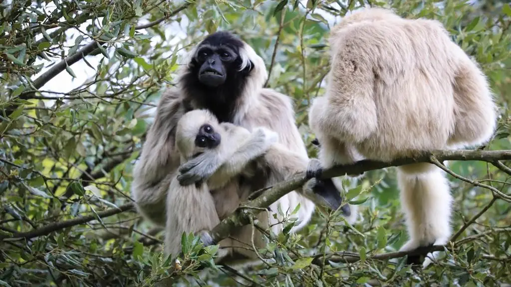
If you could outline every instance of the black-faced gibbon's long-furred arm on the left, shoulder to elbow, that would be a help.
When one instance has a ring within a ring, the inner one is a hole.
[[[167,190],[179,166],[174,133],[183,113],[177,91],[169,90],[161,96],[154,122],[133,170],[131,193],[137,210],[159,226],[165,226]]]

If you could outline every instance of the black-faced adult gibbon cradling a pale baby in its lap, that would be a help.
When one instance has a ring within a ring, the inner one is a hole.
[[[249,131],[255,126],[266,127],[278,134],[285,150],[282,161],[257,169],[251,179],[241,180],[237,187],[251,192],[284,180],[277,172],[286,166],[286,153],[297,153],[308,158],[305,144],[295,125],[294,111],[289,97],[271,89],[263,88],[268,77],[263,59],[247,43],[228,32],[216,32],[207,36],[190,53],[187,65],[180,70],[175,88],[167,90],[159,101],[156,115],[150,127],[140,159],[133,171],[132,194],[137,210],[152,222],[165,226],[166,198],[171,180],[176,176],[180,156],[174,145],[176,125],[181,116],[193,109],[207,109],[220,122],[242,126]],[[312,161],[314,163],[314,161]],[[208,153],[199,155],[180,168],[181,184],[190,184],[212,175],[221,165]],[[313,168],[314,164],[309,164]],[[303,172],[304,166],[294,166],[294,172]],[[309,169],[311,170],[311,169]],[[308,173],[309,174],[309,173]],[[315,179],[311,179],[315,180]],[[316,188],[319,196],[330,201],[337,190]],[[301,190],[298,190],[301,192]],[[330,196],[327,196],[330,195]],[[339,203],[330,201],[332,208]],[[175,206],[177,203],[168,203]],[[270,224],[277,234],[282,230],[282,220],[277,206],[291,212],[300,204],[297,214],[299,224],[291,230],[305,226],[314,212],[314,203],[293,191],[270,205]],[[194,210],[193,205],[188,205]],[[344,209],[344,211],[349,211]],[[260,216],[265,216],[261,212]]]

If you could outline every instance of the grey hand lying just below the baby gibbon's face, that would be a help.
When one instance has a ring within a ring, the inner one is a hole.
[[[189,185],[213,175],[222,165],[215,150],[207,150],[197,157],[185,162],[179,168],[177,180],[181,185]],[[190,166],[192,166],[190,168]]]

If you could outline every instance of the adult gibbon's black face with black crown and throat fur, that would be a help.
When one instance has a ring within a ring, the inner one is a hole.
[[[194,100],[195,108],[210,110],[219,122],[233,122],[236,103],[254,65],[245,63],[245,43],[234,34],[220,31],[199,43],[188,70],[180,81],[185,94]],[[250,59],[248,59],[250,60]]]

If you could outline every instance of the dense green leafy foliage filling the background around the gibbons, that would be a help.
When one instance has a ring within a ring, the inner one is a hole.
[[[481,64],[496,94],[501,117],[485,149],[511,149],[506,2],[4,0],[0,285],[152,286],[169,275],[213,286],[511,283],[511,204],[487,188],[511,195],[511,181],[482,161],[451,163],[468,179],[450,176],[453,227],[461,232],[446,258],[426,270],[389,253],[407,240],[393,169],[346,181],[347,197],[361,209],[354,226],[316,212],[296,235],[270,234],[259,250],[262,257],[277,255],[268,265],[237,271],[214,266],[215,248],[204,250],[193,237],[183,237],[179,264],[166,260],[161,232],[138,216],[130,198],[133,163],[154,106],[175,83],[183,52],[200,37],[229,29],[252,45],[270,71],[267,86],[294,98],[309,143],[307,108],[324,92],[329,67],[326,37],[347,11],[364,4],[442,21]],[[189,276],[203,268],[201,278]]]

